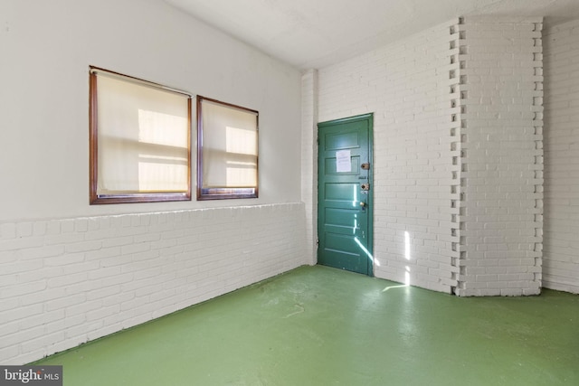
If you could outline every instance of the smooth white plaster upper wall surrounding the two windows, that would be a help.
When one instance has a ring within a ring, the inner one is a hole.
[[[289,65],[160,0],[3,1],[0,47],[0,221],[299,202]],[[90,206],[90,65],[259,110],[260,198]]]

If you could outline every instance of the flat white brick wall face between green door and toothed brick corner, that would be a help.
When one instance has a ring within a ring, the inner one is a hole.
[[[451,292],[451,27],[320,69],[319,121],[374,113],[375,276]]]

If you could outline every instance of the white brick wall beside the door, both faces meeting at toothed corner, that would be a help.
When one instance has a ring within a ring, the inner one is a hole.
[[[319,70],[319,121],[375,114],[377,277],[539,292],[541,27],[457,19]]]

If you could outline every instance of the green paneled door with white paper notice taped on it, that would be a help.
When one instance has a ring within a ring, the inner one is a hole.
[[[372,114],[318,123],[318,263],[373,275]]]

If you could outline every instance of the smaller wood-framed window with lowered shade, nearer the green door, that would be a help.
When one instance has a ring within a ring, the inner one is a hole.
[[[259,113],[197,97],[197,200],[258,196]]]

